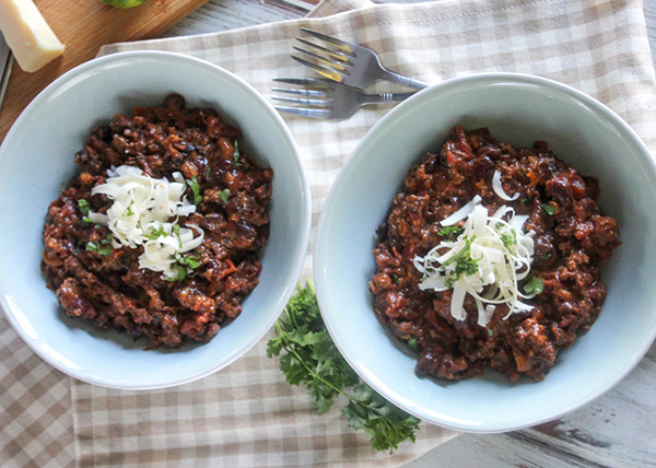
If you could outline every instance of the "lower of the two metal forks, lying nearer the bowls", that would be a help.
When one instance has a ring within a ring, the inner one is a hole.
[[[278,110],[303,117],[341,120],[351,117],[355,110],[367,104],[400,103],[414,93],[365,94],[360,90],[330,80],[314,78],[274,78],[279,83],[300,84],[303,89],[272,87],[279,93],[290,93],[307,97],[278,97],[276,101],[300,104],[308,107],[276,106]]]

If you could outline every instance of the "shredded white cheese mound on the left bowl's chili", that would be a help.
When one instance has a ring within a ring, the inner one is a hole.
[[[175,182],[154,179],[137,167],[125,165],[113,167],[107,175],[106,183],[94,187],[91,194],[104,194],[114,203],[107,214],[90,212],[89,219],[109,227],[115,248],[143,245],[139,268],[161,271],[167,279],[176,278],[177,271],[172,267],[179,255],[199,247],[204,238],[200,227],[191,230],[178,224],[180,217],[196,212],[196,206],[185,197],[183,175],[174,173]]]

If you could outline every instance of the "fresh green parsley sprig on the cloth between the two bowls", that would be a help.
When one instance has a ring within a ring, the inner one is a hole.
[[[286,382],[305,385],[318,414],[343,395],[349,400],[343,417],[351,428],[364,430],[375,449],[391,453],[401,442],[414,442],[420,420],[360,382],[326,330],[312,281],[306,288],[298,286],[285,306],[267,355],[280,355]]]

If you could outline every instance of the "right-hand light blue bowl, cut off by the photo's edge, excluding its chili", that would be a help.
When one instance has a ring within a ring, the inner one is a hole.
[[[623,245],[604,266],[609,294],[591,330],[560,354],[541,383],[509,384],[487,370],[457,384],[420,378],[415,356],[383,326],[368,290],[376,227],[407,171],[438,151],[457,124],[487,126],[516,147],[546,140],[584,175],[599,179],[599,204]],[[600,396],[642,359],[656,334],[656,168],[614,113],[553,81],[481,74],[431,86],[382,119],[339,175],[315,247],[324,319],[338,348],[378,393],[417,417],[468,432],[501,432],[555,419]]]

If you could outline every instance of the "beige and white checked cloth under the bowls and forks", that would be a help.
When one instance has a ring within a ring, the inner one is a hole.
[[[391,70],[427,82],[515,71],[567,83],[618,112],[656,150],[656,86],[640,0],[444,0],[375,7],[353,1],[325,0],[312,19],[121,44],[102,52],[192,55],[233,71],[269,96],[274,77],[309,75],[289,58],[298,26],[308,26],[370,46]],[[348,155],[387,110],[362,109],[341,122],[285,117],[308,172],[315,224]],[[309,265],[308,258],[304,274]],[[304,390],[284,383],[277,362],[266,358],[268,338],[200,382],[119,391],[52,370],[0,316],[0,465],[391,467],[456,435],[423,424],[415,445],[405,444],[394,456],[374,453],[337,409],[315,416]]]

